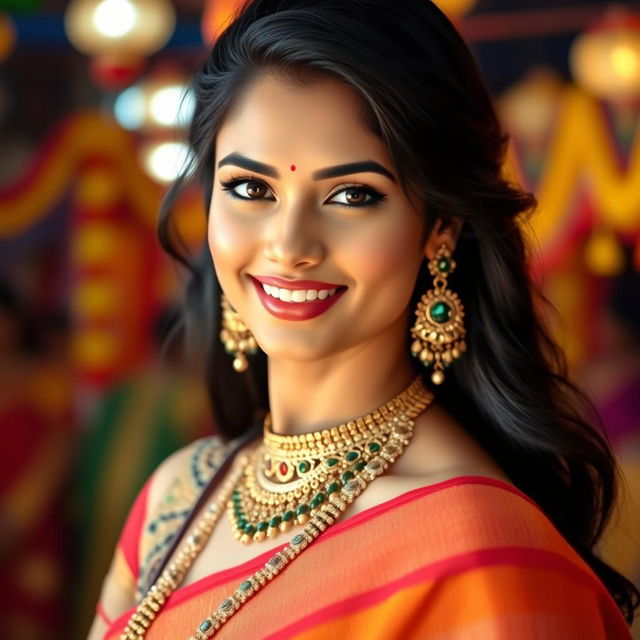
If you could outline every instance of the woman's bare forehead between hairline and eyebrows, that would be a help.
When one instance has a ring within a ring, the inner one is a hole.
[[[275,73],[254,78],[218,132],[216,155],[233,151],[284,163],[310,156],[314,164],[355,156],[388,161],[386,146],[367,123],[363,99],[332,76],[305,84]]]

